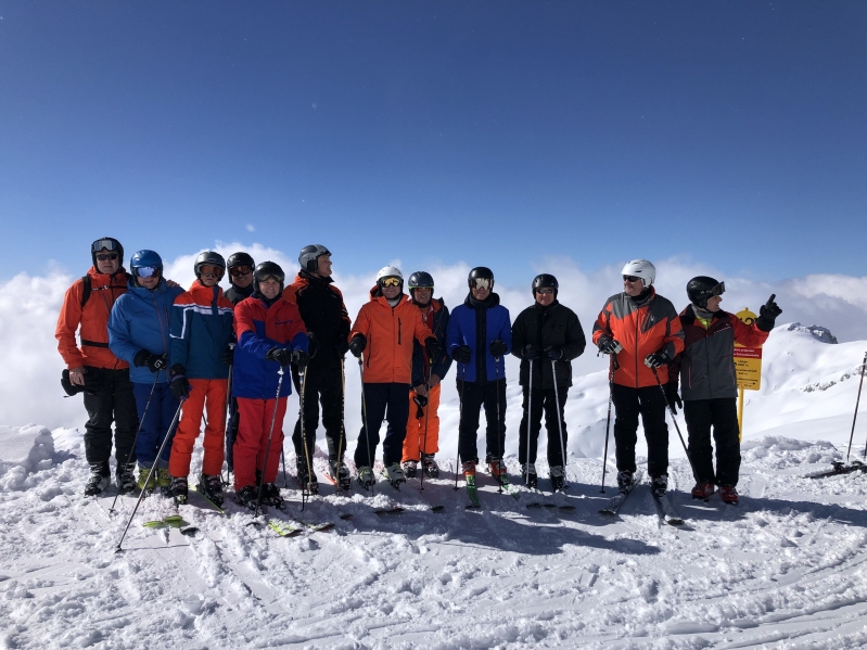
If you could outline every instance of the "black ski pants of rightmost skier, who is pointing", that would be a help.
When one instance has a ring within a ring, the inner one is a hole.
[[[689,457],[701,483],[738,484],[740,472],[740,429],[736,397],[684,402],[684,417],[689,432]],[[716,443],[714,474],[711,428]]]

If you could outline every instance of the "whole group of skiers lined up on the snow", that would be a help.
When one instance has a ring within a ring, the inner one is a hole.
[[[485,464],[508,485],[503,357],[513,354],[521,359],[523,390],[522,477],[528,487],[537,487],[535,463],[544,413],[552,488],[565,487],[564,406],[572,385],[571,362],[584,353],[586,340],[578,317],[558,301],[558,281],[549,273],[533,280],[534,302],[512,323],[486,267],[472,269],[464,302],[449,314],[444,301],[434,298],[430,273],[412,273],[407,295],[401,271],[386,266],[379,271],[369,301],[350,321],[331,278],[331,252],[318,244],[302,248],[298,273],[289,285],[273,262],[256,266],[243,252],[228,262],[215,252],[201,253],[194,263],[196,280],[186,292],[163,277],[162,259],[153,251],[132,255],[129,273],[123,267],[124,248],[113,238],[94,241],[91,258],[88,273],[66,292],[56,329],[67,366],[62,383],[71,395],[85,393],[89,416],[85,451],[91,475],[86,495],[109,486],[114,423],[118,492],[160,486],[184,502],[204,416],[197,490],[220,505],[222,466],[228,461],[239,502],[251,508],[263,502],[280,506],[276,481],[293,383],[301,395],[292,436],[298,483],[307,493],[318,492],[311,463],[321,404],[329,456],[326,475],[348,489],[347,352],[358,358],[362,382],[362,426],[354,453],[361,486],[375,483],[373,467],[384,420],[385,479],[398,485],[419,471],[438,476],[437,410],[442,381],[452,361],[460,397],[460,471],[468,487],[473,487],[484,407]],[[226,272],[230,289],[222,292],[219,282]],[[624,291],[605,302],[592,328],[594,344],[611,356],[619,487],[625,493],[636,480],[640,415],[651,487],[655,496],[665,494],[665,409],[670,406],[674,415],[683,406],[696,474],[692,495],[706,499],[718,485],[724,500],[737,502],[740,444],[732,349],[736,342],[761,345],[780,309],[772,296],[756,322],[743,324],[719,308],[724,283],[699,277],[687,285],[690,304],[678,315],[670,301],[656,294],[654,280],[652,264],[628,263],[623,269]],[[292,381],[283,380],[285,369]]]

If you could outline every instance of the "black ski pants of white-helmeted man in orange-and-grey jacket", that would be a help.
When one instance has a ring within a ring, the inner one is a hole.
[[[638,442],[638,416],[645,426],[648,448],[648,473],[668,473],[668,425],[665,423],[665,398],[659,386],[633,388],[611,385],[614,402],[614,444],[617,471],[635,472],[635,444]]]

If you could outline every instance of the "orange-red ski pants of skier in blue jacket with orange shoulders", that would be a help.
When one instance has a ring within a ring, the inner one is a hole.
[[[207,426],[203,447],[202,473],[215,476],[222,471],[222,434],[226,429],[226,379],[191,379],[190,396],[183,403],[178,430],[171,442],[168,473],[187,476],[195,438],[202,429],[202,413],[207,409]]]

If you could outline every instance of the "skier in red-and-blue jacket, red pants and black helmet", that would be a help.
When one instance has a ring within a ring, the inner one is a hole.
[[[234,308],[238,346],[232,396],[241,415],[234,443],[234,489],[238,501],[251,509],[259,492],[265,504],[280,507],[283,502],[276,481],[292,382],[281,381],[280,372],[290,364],[304,368],[309,360],[307,330],[298,308],[281,296],[284,282],[279,265],[263,262],[253,273],[253,295]]]

